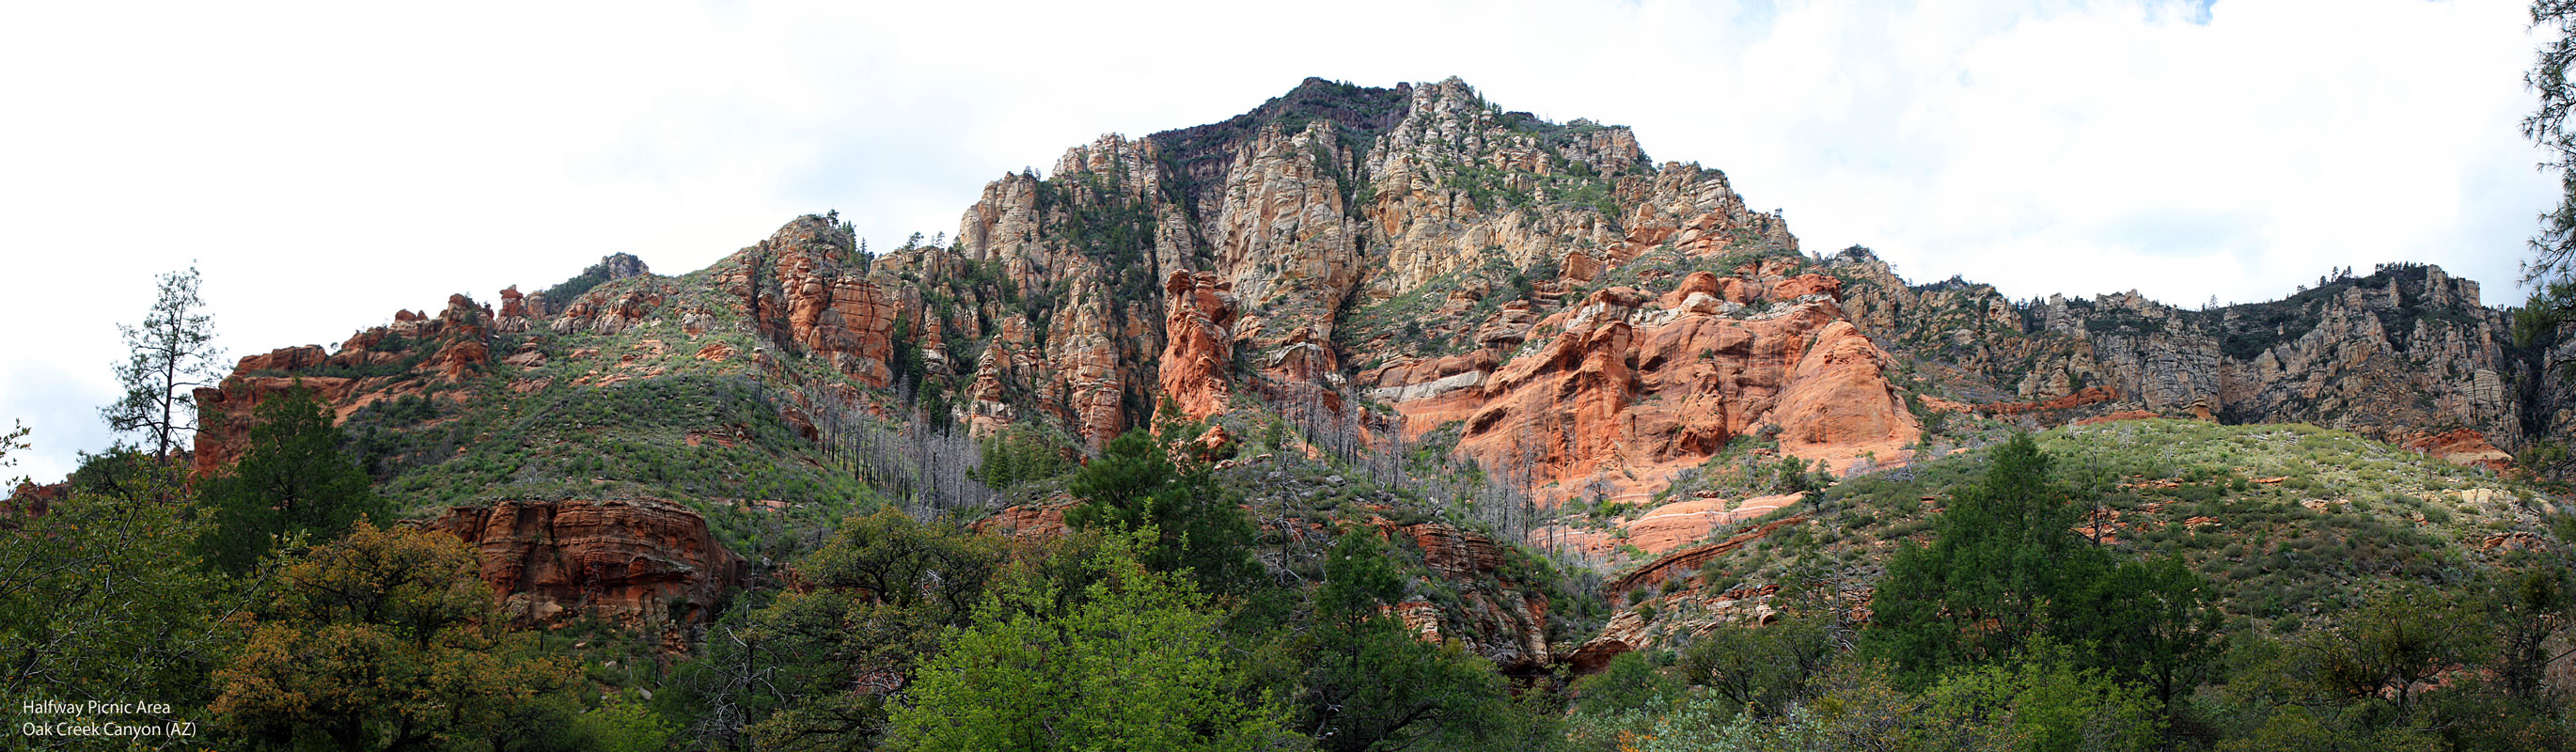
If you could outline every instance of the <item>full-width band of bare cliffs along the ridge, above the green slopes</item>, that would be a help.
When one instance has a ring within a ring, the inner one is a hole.
[[[2576,420],[2555,376],[2576,345],[2514,348],[2476,283],[2437,268],[2213,312],[1911,286],[1865,250],[1801,255],[1777,211],[1623,126],[1548,124],[1458,80],[1309,80],[1224,124],[1100,136],[984,185],[953,240],[860,247],[799,216],[706,273],[613,255],[564,301],[510,288],[497,314],[456,299],[337,353],[255,355],[206,399],[198,464],[237,456],[234,417],[281,386],[258,379],[301,373],[348,415],[428,379],[510,371],[507,391],[541,394],[703,363],[775,384],[817,440],[925,409],[1100,446],[1164,397],[1188,417],[1293,407],[1360,451],[1455,435],[1543,502],[1649,497],[1739,438],[1837,471],[1899,464],[1940,412],[2468,430],[2486,448],[2445,453],[2486,464]]]

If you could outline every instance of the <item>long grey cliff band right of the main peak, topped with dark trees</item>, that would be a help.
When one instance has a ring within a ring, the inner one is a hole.
[[[1850,306],[1868,335],[1904,358],[1955,366],[1963,379],[1947,386],[1968,397],[2298,420],[2380,440],[2470,430],[2501,448],[2566,430],[2561,379],[2540,368],[2548,348],[2514,348],[2506,312],[2481,306],[2478,283],[2434,265],[2205,312],[2138,294],[2022,309],[1989,286],[1909,286],[1865,250],[1829,268],[1855,281]]]

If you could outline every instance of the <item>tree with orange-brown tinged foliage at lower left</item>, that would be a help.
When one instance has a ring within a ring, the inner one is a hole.
[[[505,747],[562,711],[574,667],[541,657],[446,533],[358,523],[291,556],[214,672],[219,729],[255,749]]]

